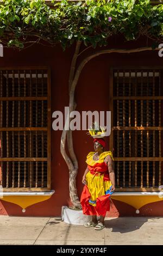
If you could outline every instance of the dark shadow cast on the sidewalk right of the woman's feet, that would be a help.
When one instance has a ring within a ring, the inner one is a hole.
[[[105,227],[112,228],[112,232],[119,232],[119,233],[128,233],[137,229],[140,229],[143,224],[146,222],[154,221],[159,217],[155,218],[148,218],[148,217],[139,217],[139,218],[132,218],[132,217],[121,217],[121,218],[114,218],[112,220],[105,220]]]

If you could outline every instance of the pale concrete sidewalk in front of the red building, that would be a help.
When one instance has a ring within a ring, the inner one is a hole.
[[[60,218],[0,216],[0,245],[162,245],[163,218],[106,218],[101,231]]]

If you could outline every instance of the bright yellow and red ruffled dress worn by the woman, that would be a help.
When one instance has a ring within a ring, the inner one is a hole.
[[[99,155],[99,160],[93,160],[95,152],[87,155],[86,163],[89,172],[86,174],[87,185],[84,186],[80,203],[83,214],[105,216],[106,211],[110,209],[111,181],[109,178],[108,165],[105,163],[105,157],[110,155],[111,151],[105,151]],[[113,160],[113,157],[112,157]]]

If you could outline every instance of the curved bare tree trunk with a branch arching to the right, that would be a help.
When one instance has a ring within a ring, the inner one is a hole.
[[[79,64],[78,68],[76,69],[76,63],[77,63],[77,58],[80,55],[79,50],[80,50],[80,45],[81,42],[77,42],[76,45],[76,50],[73,55],[72,63],[71,63],[71,70],[70,70],[70,77],[69,77],[69,95],[70,95],[70,101],[69,101],[69,108],[70,108],[70,113],[76,109],[76,103],[74,102],[74,93],[75,89],[79,80],[79,76],[86,65],[87,62],[89,62],[92,58],[95,58],[101,54],[105,53],[134,53],[134,52],[142,52],[142,51],[151,51],[153,50],[151,47],[141,47],[141,48],[136,48],[136,49],[131,49],[131,50],[125,50],[125,49],[110,49],[110,50],[101,50],[97,51],[93,54],[90,54],[86,58],[82,60],[82,62]],[[155,50],[159,50],[158,48],[155,48]],[[76,71],[75,71],[76,70]],[[67,148],[70,154],[70,157],[66,154],[65,150],[65,144],[66,144],[66,136],[67,136]],[[70,198],[73,203],[73,205],[76,208],[81,209],[81,205],[79,202],[79,198],[77,195],[77,187],[76,187],[76,176],[78,172],[78,161],[76,158],[76,155],[74,154],[73,150],[73,140],[72,140],[72,131],[66,131],[65,129],[62,131],[62,136],[61,136],[61,154],[64,157],[68,169],[69,169],[69,189],[70,189]]]

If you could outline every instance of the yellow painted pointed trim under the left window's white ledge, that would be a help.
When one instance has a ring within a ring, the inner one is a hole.
[[[19,205],[22,209],[26,209],[28,206],[43,202],[51,198],[49,196],[3,196],[0,198],[3,201],[10,202]]]

